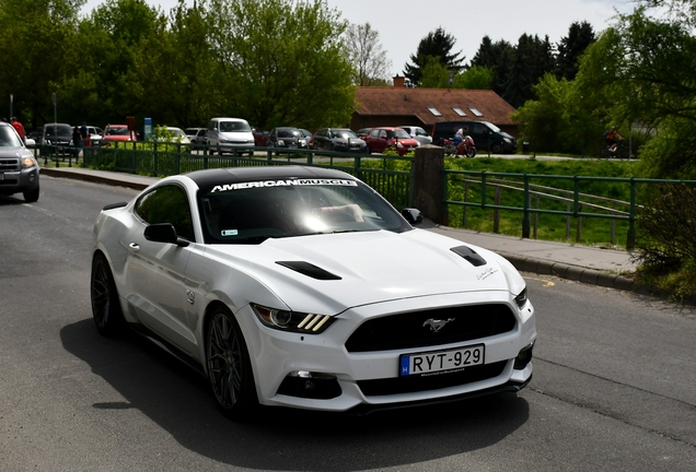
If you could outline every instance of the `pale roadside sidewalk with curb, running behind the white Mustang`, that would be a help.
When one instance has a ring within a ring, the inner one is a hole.
[[[73,178],[136,190],[144,189],[159,180],[156,177],[82,167],[42,167],[40,173],[51,177]],[[478,233],[440,226],[430,221],[424,222],[419,227],[492,250],[508,259],[520,271],[556,275],[624,291],[634,288],[633,280],[627,274],[635,271],[636,264],[627,251]]]

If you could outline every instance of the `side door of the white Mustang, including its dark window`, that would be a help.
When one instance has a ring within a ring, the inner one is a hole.
[[[172,223],[182,238],[194,240],[187,193],[178,185],[156,187],[138,199],[134,213],[139,225],[126,240],[126,287],[129,307],[148,328],[187,352],[195,352],[195,322],[189,322],[186,263],[195,245],[187,247],[146,239],[148,224]]]

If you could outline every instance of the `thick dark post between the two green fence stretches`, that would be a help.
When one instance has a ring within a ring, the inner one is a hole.
[[[414,166],[414,204],[425,217],[448,225],[444,149],[431,144],[417,148]]]

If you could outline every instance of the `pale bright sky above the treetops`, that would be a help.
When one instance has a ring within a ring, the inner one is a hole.
[[[176,0],[146,0],[169,12]],[[392,61],[391,75],[404,75],[420,40],[438,27],[455,38],[452,52],[468,63],[484,36],[513,45],[521,35],[548,36],[553,44],[568,36],[573,22],[587,21],[595,34],[611,24],[616,11],[630,12],[631,0],[325,0],[353,24],[370,23]],[[102,0],[88,0],[90,12]],[[193,4],[193,0],[187,0]]]

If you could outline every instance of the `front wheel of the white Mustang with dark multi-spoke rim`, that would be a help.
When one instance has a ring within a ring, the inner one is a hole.
[[[222,413],[231,420],[250,417],[258,405],[252,363],[240,324],[225,307],[213,309],[206,323],[206,369]]]

